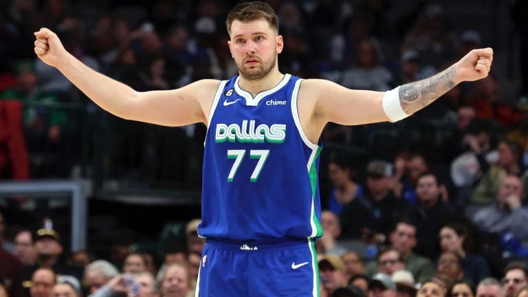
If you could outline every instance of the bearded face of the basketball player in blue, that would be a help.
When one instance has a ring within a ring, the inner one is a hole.
[[[230,52],[241,76],[260,80],[277,64],[277,54],[283,50],[283,36],[277,36],[265,19],[233,21],[228,41]]]

